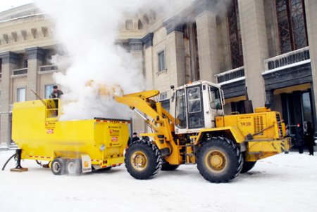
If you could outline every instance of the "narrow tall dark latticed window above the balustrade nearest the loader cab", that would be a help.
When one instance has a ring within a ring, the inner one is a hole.
[[[243,66],[240,18],[237,0],[232,0],[227,13],[232,69]]]

